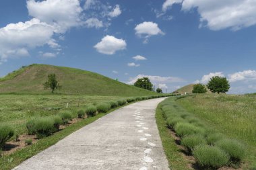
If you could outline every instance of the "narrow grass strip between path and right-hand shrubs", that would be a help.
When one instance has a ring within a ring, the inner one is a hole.
[[[169,168],[177,170],[189,169],[189,167],[187,167],[188,162],[181,155],[180,149],[177,144],[175,144],[170,130],[166,127],[166,121],[160,105],[156,108],[156,124],[164,147],[164,153],[169,163]]]

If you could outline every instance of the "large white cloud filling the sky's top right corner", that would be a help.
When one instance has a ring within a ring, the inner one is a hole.
[[[210,30],[231,28],[236,31],[256,24],[255,0],[167,0],[162,10],[166,11],[174,3],[182,3],[183,11],[196,8],[201,15],[200,27],[207,26]]]

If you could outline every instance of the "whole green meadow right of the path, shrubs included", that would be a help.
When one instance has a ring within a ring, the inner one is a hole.
[[[255,97],[183,95],[160,103],[156,119],[171,168],[255,169]],[[168,128],[159,123],[162,118]],[[181,159],[187,159],[187,167],[181,167]]]

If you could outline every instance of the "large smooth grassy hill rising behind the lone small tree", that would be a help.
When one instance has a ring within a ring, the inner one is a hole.
[[[0,93],[49,94],[51,91],[44,90],[42,84],[50,73],[55,73],[62,85],[61,90],[56,91],[61,94],[111,96],[156,94],[90,71],[52,65],[30,65],[9,73],[0,79]]]

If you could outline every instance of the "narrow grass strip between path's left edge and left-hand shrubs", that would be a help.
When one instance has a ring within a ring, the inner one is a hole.
[[[131,103],[127,103],[126,105],[129,105]],[[123,105],[125,106],[125,105]],[[113,112],[114,110],[117,110],[119,108],[122,108],[123,106],[120,106],[118,108],[109,110],[106,113],[100,113],[97,114],[94,117],[86,118],[82,120],[81,122],[77,122],[75,124],[71,124],[71,126],[67,126],[67,128],[56,132],[52,136],[48,136],[46,138],[42,138],[38,140],[35,144],[29,145],[25,148],[22,148],[15,153],[12,153],[11,155],[7,155],[5,157],[0,157],[0,169],[1,170],[8,170],[12,169],[13,167],[16,167],[26,159],[29,159],[30,157],[40,153],[44,149],[48,148],[49,146],[52,146],[53,144],[57,143],[59,140],[65,138],[65,136],[68,136],[72,132],[75,132],[76,130],[79,130],[80,128],[94,122],[95,120],[98,120],[98,118],[101,118],[102,116],[105,116],[106,114]]]

